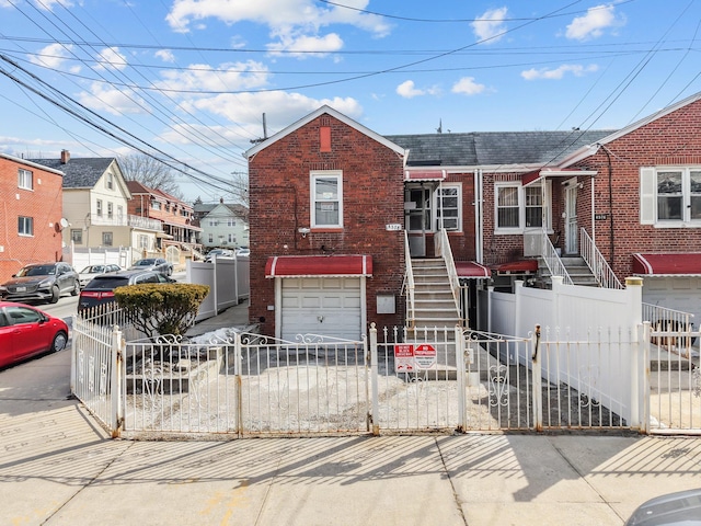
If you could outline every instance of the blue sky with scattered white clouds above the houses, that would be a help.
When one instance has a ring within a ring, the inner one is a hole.
[[[381,135],[620,128],[701,91],[700,24],[696,0],[0,0],[0,151],[138,147],[218,201],[264,121],[321,104]]]

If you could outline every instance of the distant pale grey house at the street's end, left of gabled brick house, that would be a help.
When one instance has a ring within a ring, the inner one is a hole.
[[[196,204],[195,215],[199,216],[199,242],[209,250],[249,245],[249,222],[244,219],[243,205],[225,203]]]

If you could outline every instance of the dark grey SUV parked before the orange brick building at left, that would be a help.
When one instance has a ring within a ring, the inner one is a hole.
[[[0,285],[0,299],[41,300],[55,304],[61,295],[78,296],[78,273],[68,263],[33,263],[20,268],[12,279]]]

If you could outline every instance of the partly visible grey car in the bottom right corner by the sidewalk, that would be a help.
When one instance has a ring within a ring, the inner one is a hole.
[[[678,491],[641,504],[625,526],[673,526],[701,524],[701,490]]]

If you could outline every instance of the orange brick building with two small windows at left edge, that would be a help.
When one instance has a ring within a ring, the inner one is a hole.
[[[27,263],[61,259],[60,170],[0,153],[0,283]]]

